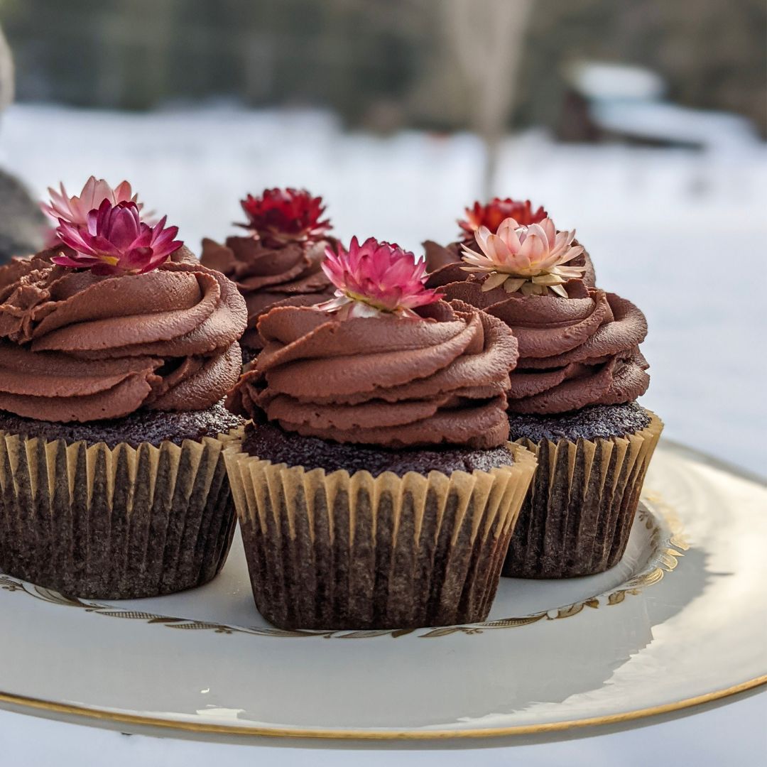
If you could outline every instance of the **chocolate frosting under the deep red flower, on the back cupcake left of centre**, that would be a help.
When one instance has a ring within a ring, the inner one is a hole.
[[[262,348],[258,318],[274,306],[311,306],[333,298],[334,288],[320,268],[330,240],[291,242],[268,248],[255,237],[228,237],[225,245],[202,240],[200,261],[235,282],[248,307],[242,345]]]

